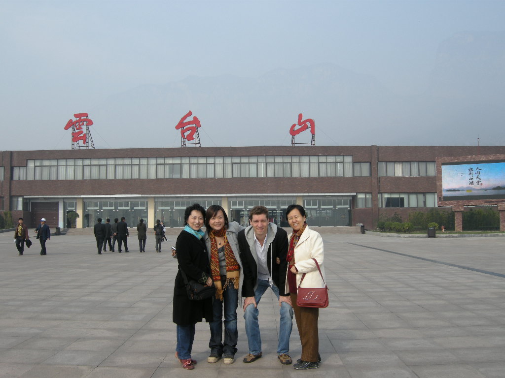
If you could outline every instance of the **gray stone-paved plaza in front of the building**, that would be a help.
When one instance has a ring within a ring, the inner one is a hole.
[[[47,256],[39,255],[36,240],[18,256],[11,234],[0,234],[0,377],[505,376],[503,238],[321,233],[330,306],[320,311],[323,362],[309,371],[276,358],[271,293],[259,306],[263,358],[241,361],[247,340],[239,308],[236,362],[206,362],[209,328],[199,323],[198,364],[183,370],[171,321],[174,236],[161,254],[153,237],[145,254],[133,236],[129,254],[98,256],[92,236],[68,235],[53,236]],[[290,345],[299,358],[296,326]]]

